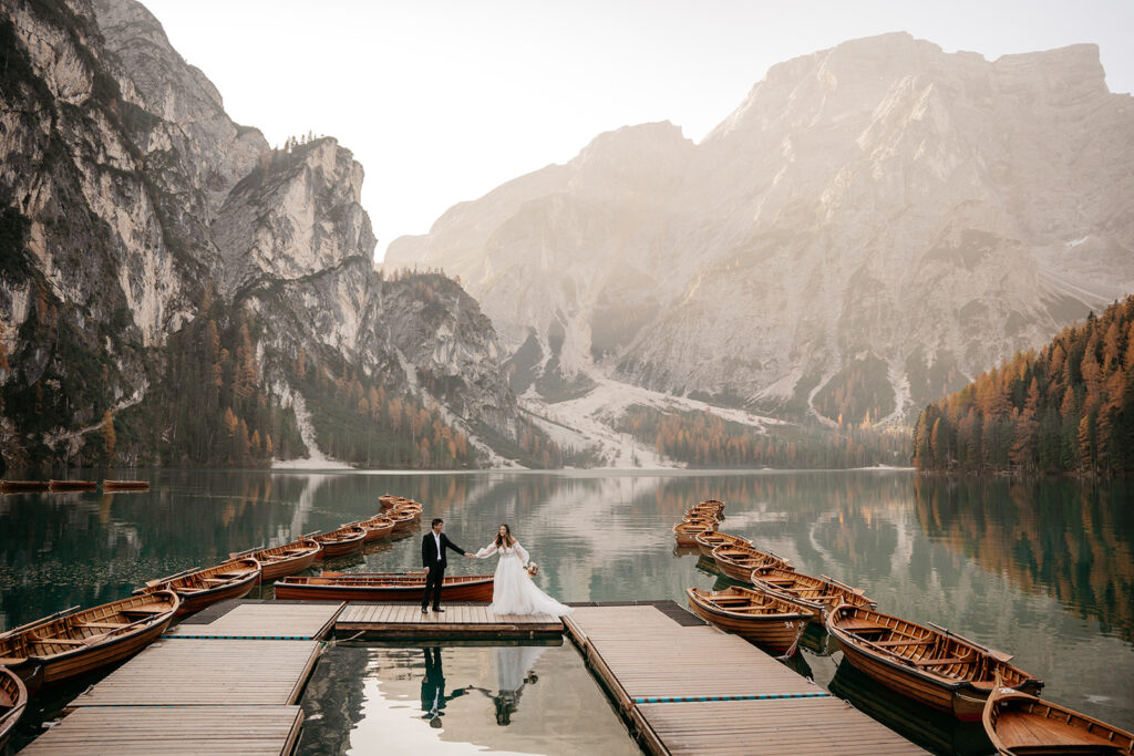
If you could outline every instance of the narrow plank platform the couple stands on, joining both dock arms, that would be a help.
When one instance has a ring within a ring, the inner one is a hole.
[[[488,604],[446,604],[422,614],[421,604],[350,602],[335,621],[337,631],[373,631],[391,638],[557,638],[562,622],[550,614],[496,614]]]

